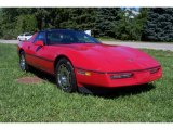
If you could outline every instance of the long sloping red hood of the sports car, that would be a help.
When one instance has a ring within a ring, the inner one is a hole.
[[[148,54],[123,46],[78,43],[69,48],[82,55],[78,58],[81,64],[76,67],[83,69],[109,73],[146,69],[160,65]]]

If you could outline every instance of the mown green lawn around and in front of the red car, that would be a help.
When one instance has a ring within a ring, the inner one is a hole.
[[[160,61],[163,78],[98,96],[65,93],[46,77],[37,84],[18,83],[17,78],[35,74],[19,69],[16,46],[0,44],[0,121],[173,121],[173,52],[144,51]]]

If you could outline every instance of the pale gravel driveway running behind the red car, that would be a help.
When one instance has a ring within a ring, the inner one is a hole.
[[[173,51],[173,43],[156,43],[156,42],[132,42],[132,41],[102,41],[106,44],[121,44],[121,46],[128,46],[133,48],[141,48],[141,49],[155,49],[155,50],[170,50]],[[18,43],[18,40],[3,40],[0,39],[0,43]]]

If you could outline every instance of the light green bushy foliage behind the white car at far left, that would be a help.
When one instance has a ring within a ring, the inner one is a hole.
[[[34,9],[2,9],[0,15],[0,37],[4,39],[16,39],[16,37],[25,31],[34,32],[37,28]]]

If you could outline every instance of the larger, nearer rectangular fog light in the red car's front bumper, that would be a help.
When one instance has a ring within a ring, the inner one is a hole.
[[[110,79],[130,78],[132,76],[133,76],[132,73],[112,74],[112,75],[110,75]]]

